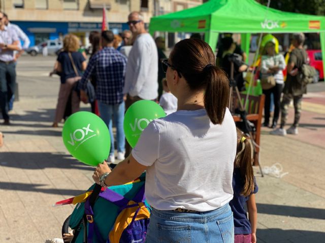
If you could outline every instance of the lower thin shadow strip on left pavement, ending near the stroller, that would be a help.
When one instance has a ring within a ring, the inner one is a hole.
[[[74,189],[56,189],[56,188],[40,188],[48,185],[44,184],[26,184],[16,182],[0,182],[0,188],[2,190],[18,190],[18,191],[35,191],[47,194],[61,194],[61,195],[79,195],[85,192],[85,190]],[[89,187],[91,184],[89,183]]]

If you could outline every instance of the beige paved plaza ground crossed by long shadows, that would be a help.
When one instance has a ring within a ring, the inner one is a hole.
[[[73,159],[62,143],[61,128],[50,127],[59,87],[57,77],[46,76],[53,63],[53,57],[21,59],[13,124],[0,126],[5,135],[0,148],[1,243],[60,237],[73,207],[52,205],[92,184],[93,168]],[[321,90],[321,85],[325,87],[323,82],[313,87]],[[324,111],[325,93],[312,92],[304,98],[298,136],[272,136],[263,129],[262,167],[280,163],[288,174],[262,178],[254,168],[258,242],[325,242]],[[290,109],[288,122],[292,119]]]

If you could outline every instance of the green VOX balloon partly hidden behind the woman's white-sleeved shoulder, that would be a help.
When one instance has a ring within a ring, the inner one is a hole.
[[[166,113],[160,105],[151,100],[140,100],[133,103],[125,112],[124,133],[125,138],[131,147],[135,147],[142,131],[150,121],[165,117]]]

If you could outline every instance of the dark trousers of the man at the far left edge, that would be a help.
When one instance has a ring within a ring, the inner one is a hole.
[[[4,119],[9,119],[9,101],[16,89],[15,63],[0,62],[0,108]]]

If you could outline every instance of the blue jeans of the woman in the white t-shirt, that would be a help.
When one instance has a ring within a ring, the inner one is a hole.
[[[153,209],[146,243],[234,243],[234,218],[229,204],[208,212],[180,213]]]

